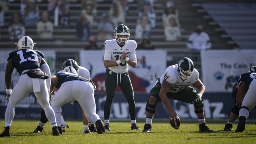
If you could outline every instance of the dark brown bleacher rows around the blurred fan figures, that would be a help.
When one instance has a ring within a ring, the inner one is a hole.
[[[201,23],[212,41],[212,49],[233,49],[238,47],[233,41],[233,37],[221,30],[220,26],[210,17],[206,11],[200,12],[201,5],[197,5],[197,1],[187,0],[174,0],[175,6],[179,11],[179,20],[181,24],[181,39],[178,41],[165,41],[164,27],[162,25],[162,12],[166,0],[154,1],[154,9],[156,12],[156,27],[151,30],[151,43],[156,49],[167,50],[184,50],[186,49],[186,42],[188,35],[194,31],[196,23]],[[100,21],[101,14],[108,12],[112,0],[103,0],[97,2],[97,22]],[[40,12],[47,10],[48,1],[43,0],[37,3]],[[135,33],[135,21],[138,18],[138,4],[137,2],[129,3],[129,12],[126,16],[126,25],[129,26],[132,33],[130,39],[134,39]],[[16,40],[10,40],[8,38],[8,26],[10,25],[11,15],[14,12],[20,12],[20,2],[14,1],[9,3],[9,11],[5,12],[5,26],[1,27],[1,49],[13,48]],[[78,41],[75,39],[75,24],[79,19],[81,13],[81,1],[70,2],[70,26],[68,27],[55,27],[53,39],[44,40],[38,39],[36,33],[36,27],[26,27],[26,35],[33,37],[37,43],[38,48],[47,49],[73,49],[80,50],[88,44],[88,42]],[[207,15],[207,16],[206,16]],[[206,18],[208,17],[208,18]],[[53,22],[54,16],[50,16],[50,20]],[[212,23],[212,24],[211,24]],[[213,24],[215,23],[215,24]],[[222,37],[222,36],[227,37]],[[97,37],[97,26],[92,28],[92,36]],[[139,43],[139,42],[137,42]],[[101,47],[103,41],[97,41],[97,45]]]

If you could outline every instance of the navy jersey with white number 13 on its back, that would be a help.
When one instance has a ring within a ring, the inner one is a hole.
[[[7,60],[12,59],[14,68],[21,75],[24,70],[40,68],[42,58],[44,54],[39,50],[20,49],[9,53]]]

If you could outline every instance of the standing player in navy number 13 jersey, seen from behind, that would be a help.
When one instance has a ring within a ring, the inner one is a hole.
[[[52,126],[53,135],[60,135],[55,114],[49,103],[50,69],[44,60],[44,54],[33,50],[34,42],[28,36],[23,36],[17,44],[18,50],[9,53],[5,69],[6,99],[9,100],[5,111],[5,130],[0,137],[10,137],[10,127],[14,118],[14,109],[31,91],[34,92],[44,109]],[[20,79],[11,89],[11,74],[14,68],[20,74]]]

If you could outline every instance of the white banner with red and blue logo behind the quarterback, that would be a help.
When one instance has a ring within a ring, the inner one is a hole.
[[[105,72],[103,64],[105,50],[81,50],[80,66],[91,73],[98,92],[105,92]],[[150,92],[154,82],[166,69],[165,50],[136,50],[137,66],[129,66],[129,76],[135,92]],[[117,86],[116,91],[120,91]]]

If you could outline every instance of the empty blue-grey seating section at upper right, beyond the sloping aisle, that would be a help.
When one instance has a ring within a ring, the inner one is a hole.
[[[256,4],[209,2],[201,6],[241,49],[256,47]]]

